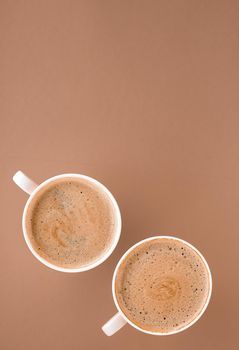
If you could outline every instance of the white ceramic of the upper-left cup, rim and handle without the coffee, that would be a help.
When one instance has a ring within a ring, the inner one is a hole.
[[[38,194],[38,192],[42,189],[44,189],[44,187],[47,187],[49,185],[49,183],[51,182],[55,182],[58,179],[63,179],[63,178],[76,178],[76,179],[84,179],[85,181],[91,183],[94,185],[94,187],[98,190],[103,192],[110,200],[110,203],[112,205],[113,208],[113,213],[114,213],[114,221],[115,221],[115,230],[114,230],[114,238],[111,242],[111,245],[109,246],[108,250],[105,252],[105,254],[103,256],[101,256],[98,260],[89,263],[87,265],[84,265],[82,267],[79,268],[64,268],[64,267],[60,267],[57,265],[54,265],[50,262],[48,262],[46,259],[42,258],[37,252],[36,250],[33,248],[31,241],[28,237],[28,233],[27,233],[27,228],[26,228],[26,216],[27,216],[27,209],[31,203],[31,201],[33,200],[33,198]],[[24,211],[23,211],[23,215],[22,215],[22,230],[23,230],[23,236],[25,238],[26,244],[28,246],[28,248],[30,249],[30,251],[32,252],[32,254],[44,265],[50,267],[53,270],[57,270],[57,271],[61,271],[61,272],[83,272],[83,271],[87,271],[87,270],[91,270],[94,267],[102,264],[110,255],[111,253],[114,251],[119,238],[120,238],[120,234],[121,234],[121,215],[120,215],[120,210],[118,207],[118,204],[115,200],[115,198],[113,197],[112,193],[104,186],[102,185],[99,181],[86,176],[86,175],[80,175],[80,174],[62,174],[62,175],[57,175],[54,177],[51,177],[49,179],[47,179],[46,181],[42,182],[40,185],[37,185],[34,181],[32,181],[31,179],[29,179],[29,177],[27,177],[22,171],[18,171],[16,172],[16,174],[13,176],[13,181],[26,193],[28,193],[30,195],[30,197],[27,200],[27,203],[25,205]]]

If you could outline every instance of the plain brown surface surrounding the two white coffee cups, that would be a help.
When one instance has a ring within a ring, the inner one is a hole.
[[[0,1],[0,348],[235,349],[238,339],[239,2]],[[120,243],[97,269],[42,266],[11,181],[91,175],[114,193]],[[169,337],[101,325],[122,253],[158,234],[207,258],[213,297]]]

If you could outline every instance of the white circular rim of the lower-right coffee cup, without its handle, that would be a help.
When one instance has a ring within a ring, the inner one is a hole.
[[[128,317],[124,314],[124,312],[122,311],[122,309],[120,308],[119,306],[119,303],[117,301],[117,298],[116,298],[116,295],[115,295],[115,280],[116,280],[116,275],[117,275],[117,272],[119,270],[119,267],[121,265],[121,263],[123,262],[123,260],[127,257],[127,255],[129,253],[131,253],[136,247],[138,247],[139,245],[145,243],[145,242],[148,242],[148,241],[151,241],[151,240],[154,240],[154,239],[161,239],[161,238],[168,238],[168,239],[174,239],[174,240],[177,240],[177,241],[180,241],[182,242],[183,244],[189,246],[190,248],[192,248],[199,256],[200,258],[202,259],[204,265],[206,266],[206,269],[208,271],[208,276],[209,276],[209,291],[208,291],[208,296],[207,296],[207,300],[203,306],[203,308],[201,309],[200,313],[197,315],[197,317],[195,317],[192,322],[190,322],[189,324],[185,325],[184,327],[178,329],[178,330],[175,330],[175,331],[171,331],[171,332],[167,332],[167,333],[162,333],[162,332],[154,332],[154,331],[148,331],[148,330],[145,330],[143,328],[140,328],[139,326],[137,326],[135,323],[133,323],[131,320],[128,319]],[[189,242],[181,239],[181,238],[178,238],[178,237],[175,237],[175,236],[151,236],[151,237],[148,237],[148,238],[145,238],[139,242],[137,242],[136,244],[134,244],[132,247],[130,247],[123,255],[122,257],[120,258],[120,260],[118,261],[117,265],[116,265],[116,268],[114,270],[114,274],[113,274],[113,278],[112,278],[112,294],[113,294],[113,300],[114,300],[114,303],[115,303],[115,306],[118,310],[118,312],[120,313],[120,315],[124,318],[124,320],[126,322],[128,322],[132,327],[136,328],[137,330],[143,332],[143,333],[146,333],[146,334],[151,334],[151,335],[159,335],[159,336],[166,336],[166,335],[172,335],[172,334],[176,334],[176,333],[180,333],[184,330],[186,330],[187,328],[191,327],[194,323],[196,323],[200,317],[203,315],[203,313],[205,312],[208,304],[209,304],[209,301],[211,299],[211,295],[212,295],[212,273],[210,271],[210,268],[208,266],[208,263],[206,261],[206,259],[204,258],[204,256],[202,255],[202,253],[200,253],[200,251],[195,248],[192,244],[190,244]]]

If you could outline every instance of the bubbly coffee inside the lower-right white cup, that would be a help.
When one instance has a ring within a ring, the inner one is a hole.
[[[209,283],[208,270],[194,249],[175,239],[156,238],[123,260],[115,294],[123,313],[138,327],[170,333],[198,316]]]

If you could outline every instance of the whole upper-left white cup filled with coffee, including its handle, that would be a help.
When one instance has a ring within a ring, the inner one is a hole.
[[[18,172],[14,181],[31,194],[23,213],[23,233],[41,262],[59,271],[80,272],[111,254],[121,218],[105,186],[78,174],[59,175],[37,186]]]

